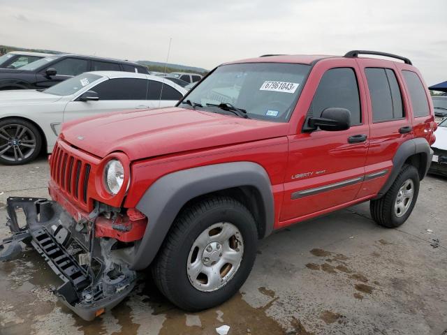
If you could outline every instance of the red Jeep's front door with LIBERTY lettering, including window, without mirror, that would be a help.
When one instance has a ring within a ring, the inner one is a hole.
[[[360,190],[369,137],[365,92],[358,84],[361,76],[356,62],[344,59],[342,64],[314,69],[312,75],[321,79],[306,119],[320,117],[328,107],[342,107],[351,112],[351,128],[312,132],[303,128],[289,136],[281,225],[353,201]]]

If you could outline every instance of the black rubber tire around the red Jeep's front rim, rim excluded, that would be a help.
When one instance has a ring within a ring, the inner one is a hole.
[[[186,265],[199,234],[219,222],[232,223],[240,230],[244,253],[240,267],[226,285],[212,292],[203,292],[189,281]],[[246,281],[254,265],[257,244],[256,223],[243,204],[228,197],[203,200],[184,209],[175,219],[152,264],[154,282],[165,297],[185,311],[217,306],[235,295]]]

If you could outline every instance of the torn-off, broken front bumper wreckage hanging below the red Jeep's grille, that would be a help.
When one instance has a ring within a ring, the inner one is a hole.
[[[54,293],[84,320],[129,295],[136,280],[129,264],[137,242],[119,237],[129,227],[141,227],[141,218],[131,221],[119,209],[96,204],[76,222],[59,203],[44,198],[8,198],[7,206],[13,236],[1,242],[0,260],[17,258],[20,242],[33,246],[64,281]],[[21,225],[17,216],[26,222]]]

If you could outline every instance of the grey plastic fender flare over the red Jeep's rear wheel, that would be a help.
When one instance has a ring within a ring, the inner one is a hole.
[[[425,175],[432,163],[433,150],[430,148],[430,144],[424,137],[412,138],[400,144],[393,157],[393,170],[390,177],[388,177],[386,183],[382,186],[376,199],[381,198],[390,189],[391,185],[395,181],[397,174],[399,174],[405,161],[416,154],[422,154],[424,159],[420,161],[419,177],[420,180],[424,179]]]

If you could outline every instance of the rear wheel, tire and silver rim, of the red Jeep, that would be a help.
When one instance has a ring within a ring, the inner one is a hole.
[[[382,198],[371,200],[371,216],[386,228],[397,228],[409,218],[419,193],[419,173],[413,165],[404,165]]]

